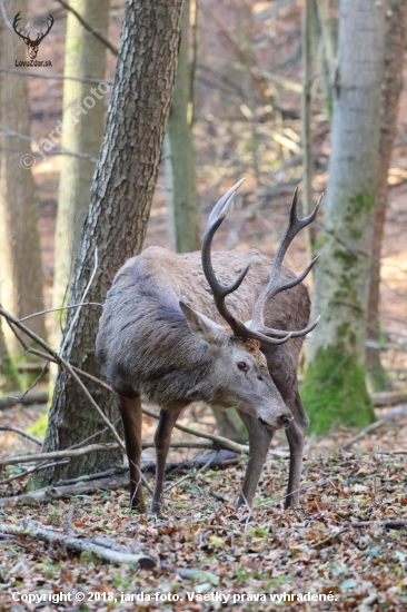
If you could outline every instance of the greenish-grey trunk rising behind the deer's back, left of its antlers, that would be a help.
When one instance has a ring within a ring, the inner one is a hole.
[[[169,191],[169,235],[176,253],[199,248],[198,201],[195,186],[192,137],[191,71],[188,61],[190,0],[183,3],[182,33],[179,47],[177,78],[168,120],[168,145],[172,169],[172,191]]]

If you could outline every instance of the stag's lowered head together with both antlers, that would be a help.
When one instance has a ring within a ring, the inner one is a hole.
[[[291,204],[290,220],[274,259],[269,280],[255,303],[251,319],[244,323],[235,318],[225,298],[236,292],[241,285],[250,268],[250,264],[228,286],[219,283],[211,264],[211,241],[214,235],[224,221],[235,191],[241,182],[242,180],[229,189],[214,208],[205,230],[201,250],[204,274],[212,290],[217,310],[231,328],[232,335],[207,316],[189,308],[182,302],[180,302],[180,307],[187,319],[189,329],[208,345],[214,365],[206,381],[207,385],[214,389],[214,396],[209,402],[217,405],[232,405],[255,416],[268,428],[287,428],[292,421],[291,413],[278,393],[269,374],[266,357],[259,348],[260,345],[262,347],[266,345],[280,345],[290,338],[305,336],[316,327],[319,317],[312,325],[291,332],[267,327],[264,323],[264,312],[268,300],[272,299],[280,292],[299,285],[317,261],[318,256],[308,265],[302,274],[295,278],[287,280],[280,274],[282,259],[289,244],[298,231],[315,219],[321,198],[308,217],[299,219],[297,216],[296,189]],[[193,391],[199,395],[199,384],[196,389],[191,391],[191,399],[193,399]]]

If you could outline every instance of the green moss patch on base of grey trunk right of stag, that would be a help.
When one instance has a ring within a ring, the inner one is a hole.
[[[375,421],[365,374],[365,367],[343,346],[318,351],[301,386],[310,433],[321,434],[334,425],[365,427]]]

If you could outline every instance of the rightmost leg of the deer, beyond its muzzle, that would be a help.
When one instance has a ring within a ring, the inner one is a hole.
[[[294,415],[291,425],[286,430],[288,444],[290,447],[290,467],[288,475],[288,490],[285,507],[299,505],[299,485],[302,472],[302,452],[305,444],[305,436],[308,428],[308,417],[304,411],[301,399],[297,392],[294,402],[287,402],[287,406],[290,408]]]

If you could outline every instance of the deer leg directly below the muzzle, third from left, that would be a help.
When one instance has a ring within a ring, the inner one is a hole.
[[[241,411],[238,412],[241,421],[247,427],[250,448],[250,457],[246,468],[244,486],[238,500],[239,507],[244,504],[248,506],[252,505],[257,483],[259,482],[261,470],[265,465],[274,431],[264,427],[255,416],[250,416]]]

